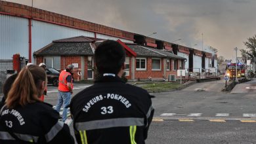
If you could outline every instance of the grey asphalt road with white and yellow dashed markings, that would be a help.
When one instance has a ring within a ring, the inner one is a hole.
[[[90,84],[75,84],[74,94]],[[221,92],[224,81],[202,82],[154,94],[147,143],[256,143],[256,96]],[[49,86],[47,102],[56,104]],[[72,130],[72,126],[70,127]],[[73,134],[73,130],[72,130]]]

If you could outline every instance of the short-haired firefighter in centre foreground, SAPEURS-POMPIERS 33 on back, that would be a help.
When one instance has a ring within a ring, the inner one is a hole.
[[[98,79],[70,103],[77,143],[145,143],[154,115],[152,101],[146,90],[120,79],[124,62],[125,50],[116,41],[97,46]]]

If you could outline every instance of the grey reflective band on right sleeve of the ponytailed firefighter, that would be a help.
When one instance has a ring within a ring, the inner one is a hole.
[[[64,126],[64,122],[58,121],[53,126],[53,128],[51,128],[51,130],[47,134],[45,134],[46,142],[48,143],[49,141],[53,140],[53,138],[58,134],[58,132],[62,130],[63,126]]]

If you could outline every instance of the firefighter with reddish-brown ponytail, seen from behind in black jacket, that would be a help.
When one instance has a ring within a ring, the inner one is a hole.
[[[20,71],[0,111],[1,144],[74,143],[58,112],[39,99],[45,84],[41,67],[28,65]]]

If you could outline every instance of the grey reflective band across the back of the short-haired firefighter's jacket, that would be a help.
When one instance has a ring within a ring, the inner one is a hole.
[[[96,130],[100,128],[113,128],[119,126],[144,126],[144,118],[113,118],[75,123],[77,130]]]

